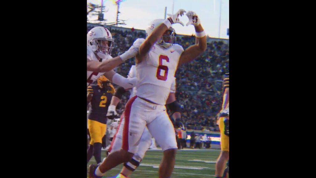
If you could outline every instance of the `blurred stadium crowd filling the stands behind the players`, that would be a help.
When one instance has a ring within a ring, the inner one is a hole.
[[[87,27],[87,32],[92,29]],[[123,54],[137,38],[145,38],[145,31],[108,28],[115,42],[112,57]],[[184,49],[195,43],[194,35],[178,35],[176,43]],[[176,72],[176,98],[181,105],[182,122],[187,129],[218,131],[216,114],[222,107],[222,81],[229,72],[229,46],[223,41],[211,41],[207,50],[196,60],[179,67]],[[135,58],[119,65],[115,71],[127,76]],[[116,87],[116,86],[115,86]],[[122,113],[129,93],[123,96],[118,107]]]

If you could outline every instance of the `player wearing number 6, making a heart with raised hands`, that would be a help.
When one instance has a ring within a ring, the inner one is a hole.
[[[167,115],[165,104],[170,92],[178,65],[190,62],[206,50],[206,36],[197,15],[189,11],[186,16],[189,24],[195,26],[196,44],[185,51],[173,42],[173,23],[180,23],[179,16],[185,10],[179,10],[166,20],[152,21],[146,29],[146,40],[137,39],[133,46],[136,54],[137,95],[132,97],[125,107],[122,149],[111,153],[98,166],[94,177],[102,177],[111,168],[128,162],[138,150],[140,138],[147,128],[164,151],[159,166],[159,178],[171,176],[177,143],[173,125]]]

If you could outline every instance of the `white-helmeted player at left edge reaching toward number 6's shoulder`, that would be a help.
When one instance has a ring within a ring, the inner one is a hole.
[[[136,79],[126,79],[112,69],[125,60],[134,57],[135,52],[128,50],[124,54],[112,58],[114,46],[111,32],[104,27],[94,27],[87,34],[87,86],[105,75],[107,79],[124,88],[132,88]],[[106,72],[106,73],[105,73]]]

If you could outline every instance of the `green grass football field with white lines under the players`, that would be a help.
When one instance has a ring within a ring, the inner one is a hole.
[[[172,178],[213,178],[215,177],[215,162],[220,153],[217,149],[183,149],[178,150]],[[102,159],[105,152],[102,151]],[[162,158],[161,150],[148,150],[141,165],[130,175],[131,178],[156,178]],[[94,157],[90,164],[96,164]],[[123,165],[108,171],[104,177],[110,177],[120,172]],[[89,169],[87,167],[87,169]],[[88,174],[87,174],[88,177]]]

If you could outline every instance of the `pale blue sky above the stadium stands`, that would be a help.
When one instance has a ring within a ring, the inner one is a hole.
[[[222,3],[220,38],[228,38],[229,0],[126,0],[120,4],[119,9],[121,12],[119,19],[126,20],[125,23],[127,24],[122,25],[122,27],[145,29],[150,21],[164,18],[165,7],[167,7],[167,14],[172,14],[173,1],[174,13],[179,9],[195,11],[201,20],[205,33],[216,38],[219,37],[220,3]],[[87,0],[87,3],[100,5],[101,0]],[[112,0],[104,0],[103,4],[107,10],[104,12],[104,18],[107,19],[107,22],[115,22],[117,6],[113,4]],[[186,16],[180,17],[180,20],[184,24],[188,22]],[[173,28],[177,34],[191,35],[195,33],[193,25],[183,27],[180,24],[174,24]]]

